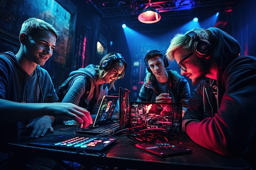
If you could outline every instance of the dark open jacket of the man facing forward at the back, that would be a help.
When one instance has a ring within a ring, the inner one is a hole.
[[[188,99],[191,97],[189,82],[177,71],[166,70],[169,79],[169,94],[172,102],[181,102],[183,107],[188,107]],[[137,102],[155,102],[159,95],[157,92],[157,80],[153,73],[147,73],[144,84],[141,86]]]

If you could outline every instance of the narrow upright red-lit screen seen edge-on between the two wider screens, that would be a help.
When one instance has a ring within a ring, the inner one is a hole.
[[[127,128],[130,123],[130,90],[119,87],[119,122],[120,129]]]

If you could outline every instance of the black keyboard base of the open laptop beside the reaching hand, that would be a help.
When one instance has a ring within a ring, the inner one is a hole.
[[[113,124],[106,124],[99,127],[83,128],[76,130],[76,132],[82,134],[113,134],[116,130],[119,130],[119,122],[115,122]]]

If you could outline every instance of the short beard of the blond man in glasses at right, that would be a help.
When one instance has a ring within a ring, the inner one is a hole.
[[[192,79],[193,86],[197,85],[207,75],[211,65],[208,59],[200,59],[198,60],[197,67],[199,76],[195,79]]]

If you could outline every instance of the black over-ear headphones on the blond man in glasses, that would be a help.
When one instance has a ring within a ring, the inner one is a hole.
[[[208,40],[201,39],[197,33],[191,31],[187,33],[192,40],[192,51],[199,58],[209,57],[211,54],[211,44]]]

